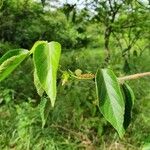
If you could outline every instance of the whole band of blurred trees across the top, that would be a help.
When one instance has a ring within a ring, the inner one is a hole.
[[[129,58],[132,47],[146,38],[149,24],[148,4],[132,0],[94,0],[80,4],[57,1],[3,0],[0,12],[1,43],[10,42],[29,48],[37,40],[56,40],[64,48],[89,46],[93,37],[104,37],[104,48],[111,53],[113,41]],[[79,1],[80,2],[80,1]],[[82,9],[81,9],[82,6]],[[99,28],[92,37],[88,28]],[[102,34],[103,33],[103,34]],[[98,38],[95,43],[99,43]],[[94,46],[94,45],[93,45]],[[18,46],[17,46],[18,47]]]

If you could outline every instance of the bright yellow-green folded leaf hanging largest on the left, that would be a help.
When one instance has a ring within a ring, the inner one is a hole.
[[[56,100],[56,79],[60,54],[61,46],[57,42],[39,43],[33,52],[37,76],[52,106]]]

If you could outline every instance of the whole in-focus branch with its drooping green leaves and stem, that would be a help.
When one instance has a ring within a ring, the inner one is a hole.
[[[34,84],[37,93],[42,97],[45,92],[49,99],[44,101],[42,126],[44,127],[50,107],[54,107],[57,95],[57,71],[61,56],[61,45],[58,42],[38,41],[31,50],[10,50],[0,58],[0,82],[4,80],[27,57],[32,56],[34,63]],[[104,118],[116,129],[122,138],[130,124],[134,104],[134,93],[126,80],[149,76],[150,72],[117,78],[111,69],[97,69],[95,74],[75,76],[64,71],[64,79],[74,76],[77,79],[93,79],[98,108]],[[41,99],[43,100],[43,99]],[[45,111],[47,109],[47,111]],[[45,114],[46,112],[46,114]]]

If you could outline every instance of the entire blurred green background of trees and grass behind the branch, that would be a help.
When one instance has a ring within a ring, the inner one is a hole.
[[[149,7],[142,0],[1,0],[0,56],[54,40],[62,45],[62,71],[109,67],[117,76],[150,71]],[[0,149],[138,150],[150,143],[148,77],[129,82],[136,101],[123,139],[99,112],[94,82],[69,79],[62,86],[61,71],[56,106],[42,129],[31,59],[0,83]]]

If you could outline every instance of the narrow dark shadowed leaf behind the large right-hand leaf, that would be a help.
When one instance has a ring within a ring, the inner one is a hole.
[[[124,83],[122,85],[122,90],[124,94],[124,99],[125,99],[125,114],[124,114],[124,128],[127,129],[131,122],[131,111],[132,111],[132,106],[134,104],[134,93],[130,86],[127,83]]]

